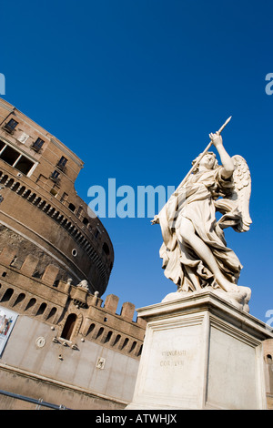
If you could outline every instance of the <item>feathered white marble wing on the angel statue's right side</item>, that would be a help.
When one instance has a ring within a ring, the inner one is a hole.
[[[216,209],[223,216],[218,221],[221,229],[232,227],[237,232],[249,230],[252,220],[249,215],[249,200],[251,194],[251,177],[247,161],[239,156],[232,157],[235,170],[233,172],[233,189],[225,199],[215,202]]]

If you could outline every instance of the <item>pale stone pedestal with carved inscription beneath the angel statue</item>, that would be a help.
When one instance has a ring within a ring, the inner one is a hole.
[[[213,291],[137,310],[147,321],[127,409],[266,409],[266,324]]]

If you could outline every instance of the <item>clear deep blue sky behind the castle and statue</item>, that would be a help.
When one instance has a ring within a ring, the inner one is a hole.
[[[226,233],[252,289],[250,313],[273,310],[272,1],[47,0],[1,5],[4,98],[85,161],[76,190],[177,186],[208,133],[252,177],[248,233]],[[103,219],[115,265],[106,294],[137,307],[176,286],[161,270],[159,226]],[[106,297],[106,294],[103,296]]]

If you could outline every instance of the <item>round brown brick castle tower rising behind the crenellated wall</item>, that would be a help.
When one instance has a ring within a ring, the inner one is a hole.
[[[32,254],[39,259],[36,278],[56,265],[56,281],[86,280],[101,296],[114,250],[101,221],[76,194],[81,168],[82,160],[61,141],[0,100],[0,251],[7,244],[16,250],[18,268]]]

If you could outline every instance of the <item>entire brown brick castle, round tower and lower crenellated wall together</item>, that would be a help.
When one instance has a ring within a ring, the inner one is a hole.
[[[83,162],[4,100],[0,120],[0,408],[35,408],[15,394],[124,408],[146,322],[133,321],[132,303],[117,314],[115,295],[101,299],[114,250],[76,194]]]

